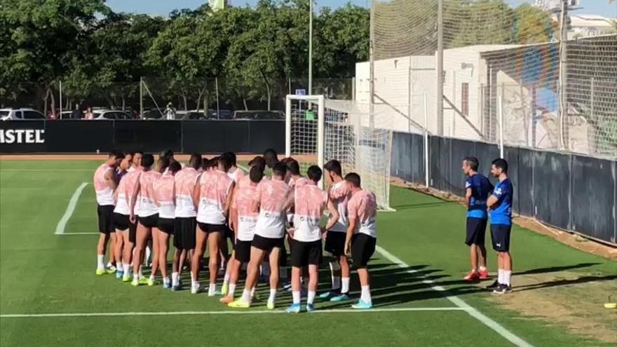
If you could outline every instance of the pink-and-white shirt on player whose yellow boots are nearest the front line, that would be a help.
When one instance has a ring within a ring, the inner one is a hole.
[[[291,193],[285,181],[267,179],[259,182],[253,200],[259,202],[259,218],[255,234],[264,238],[282,238],[285,235],[285,203]]]

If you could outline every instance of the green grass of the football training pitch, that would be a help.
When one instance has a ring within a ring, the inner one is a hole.
[[[97,236],[54,235],[67,203],[81,182],[90,182],[94,161],[0,161],[0,313],[129,313],[229,311],[217,299],[172,293],[162,287],[134,288],[112,276],[95,276]],[[57,170],[57,171],[54,171]],[[69,171],[74,170],[74,171]],[[468,269],[463,245],[465,211],[407,189],[391,190],[397,212],[379,215],[378,245],[409,264],[390,264],[375,254],[372,292],[378,308],[452,308],[423,280],[447,288],[478,311],[534,346],[609,346],[576,336],[564,327],[522,316],[489,300],[478,285],[461,283]],[[92,186],[83,191],[66,233],[96,231]],[[610,276],[617,266],[515,227],[517,273],[570,271]],[[491,264],[494,257],[490,258]],[[494,269],[494,266],[489,267]],[[426,278],[418,278],[424,275]],[[321,272],[321,287],[328,274]],[[352,276],[352,294],[358,283]],[[187,280],[184,281],[188,283]],[[516,284],[516,283],[515,283]],[[547,285],[550,285],[548,283]],[[240,289],[241,290],[241,289]],[[262,285],[262,297],[267,288]],[[515,293],[513,293],[515,295]],[[279,309],[290,303],[281,293]],[[345,305],[318,304],[340,310]],[[259,303],[252,311],[263,311]],[[374,313],[125,315],[0,318],[0,346],[508,346],[508,341],[466,311]]]

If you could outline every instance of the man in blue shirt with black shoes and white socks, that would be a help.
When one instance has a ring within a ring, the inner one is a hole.
[[[499,158],[491,163],[491,174],[499,179],[487,205],[491,215],[491,238],[497,252],[499,277],[489,286],[495,294],[512,291],[512,257],[510,256],[510,231],[512,229],[513,187],[508,179],[508,162]]]

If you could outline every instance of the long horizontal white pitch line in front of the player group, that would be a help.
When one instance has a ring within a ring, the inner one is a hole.
[[[379,312],[414,312],[414,311],[465,311],[460,307],[400,307],[400,308],[373,308],[372,310],[328,309],[317,310],[313,313],[379,313]],[[32,313],[0,315],[0,318],[62,318],[62,317],[109,317],[109,316],[136,316],[136,315],[255,315],[278,314],[285,311],[171,311],[171,312],[98,312],[98,313]]]

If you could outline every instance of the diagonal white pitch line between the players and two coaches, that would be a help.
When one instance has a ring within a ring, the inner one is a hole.
[[[405,264],[405,261],[402,261],[401,259],[398,259],[398,257],[395,257],[390,252],[384,250],[384,248],[381,248],[379,246],[377,246],[375,248],[376,248],[377,252],[379,252],[379,254],[383,255],[386,259],[388,259],[389,261],[392,261],[394,264],[397,264],[398,267],[400,267],[400,268],[409,268],[409,265]],[[415,270],[408,270],[407,273],[417,273],[417,271],[415,271]],[[420,278],[426,278],[426,276],[419,276],[419,277]],[[428,281],[425,281],[425,283],[427,283],[427,282]],[[524,341],[519,336],[516,336],[515,334],[510,332],[510,330],[508,330],[505,327],[503,327],[503,325],[500,325],[498,322],[495,322],[494,320],[492,320],[491,318],[487,317],[486,315],[484,315],[480,311],[477,311],[477,309],[475,309],[473,306],[470,306],[469,304],[467,304],[465,301],[463,301],[463,299],[460,299],[459,297],[456,297],[454,295],[448,295],[447,294],[447,290],[444,287],[433,285],[433,286],[431,286],[431,288],[433,290],[438,291],[438,292],[445,292],[444,293],[445,298],[448,299],[450,302],[452,302],[452,304],[458,306],[459,308],[462,308],[463,311],[466,311],[467,313],[469,313],[469,315],[471,315],[473,318],[475,318],[477,320],[480,320],[480,322],[482,322],[482,324],[484,324],[487,327],[493,329],[495,332],[497,332],[498,334],[503,336],[506,340],[510,341],[511,343],[514,343],[516,346],[519,346],[519,347],[532,347],[532,345],[530,343],[528,343],[527,341]]]

